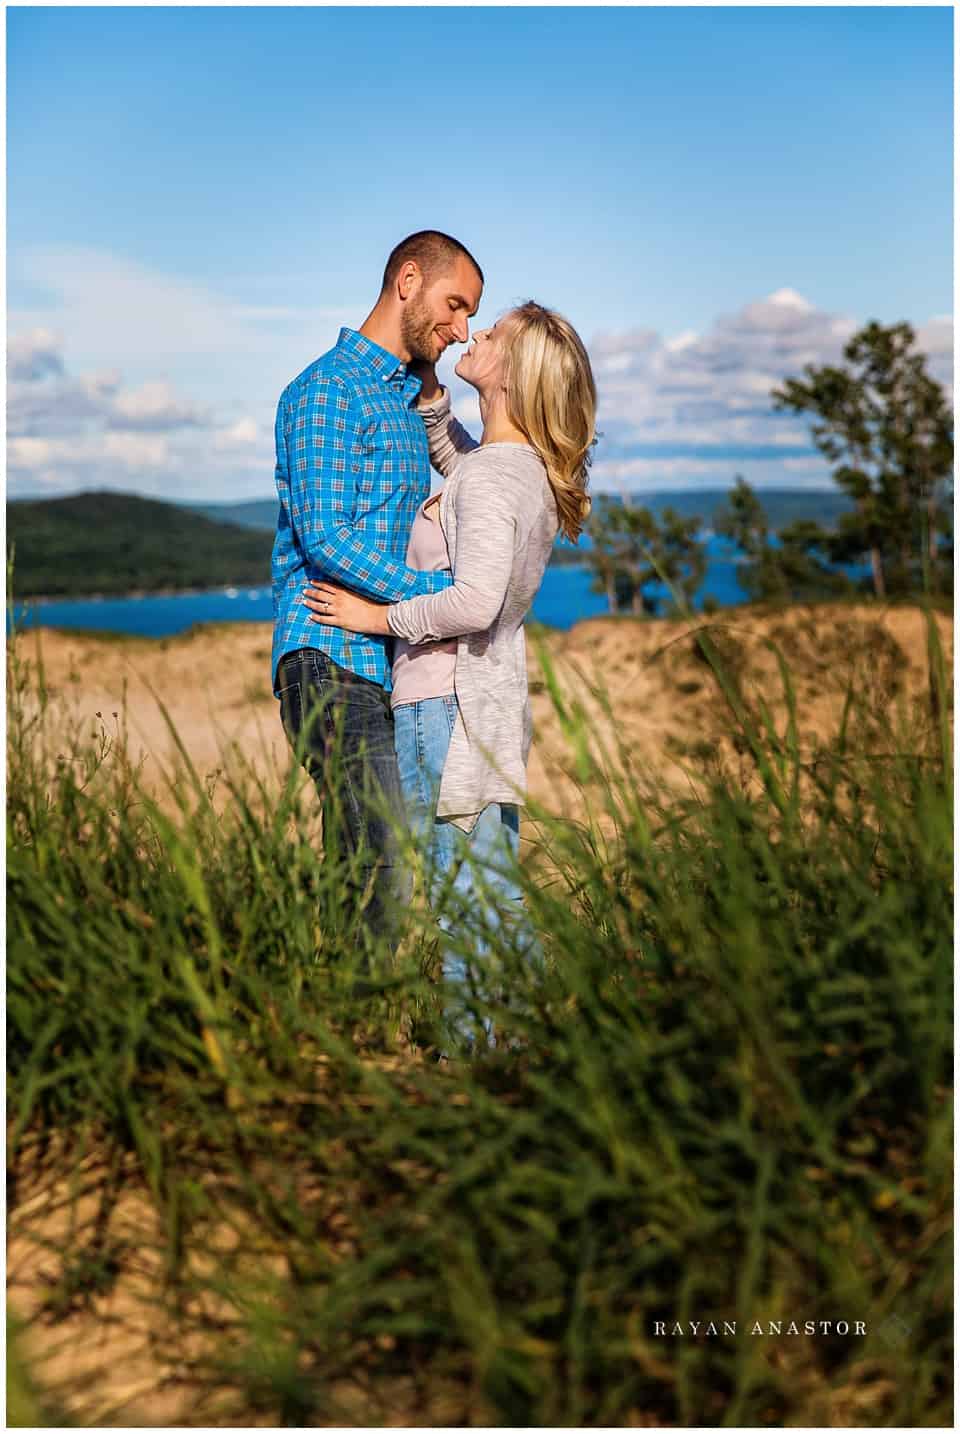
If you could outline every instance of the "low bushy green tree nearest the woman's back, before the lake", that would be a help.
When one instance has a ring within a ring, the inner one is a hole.
[[[654,614],[660,597],[647,589],[666,579],[690,604],[706,575],[706,551],[697,539],[699,518],[664,508],[660,521],[649,508],[606,498],[590,521],[594,591],[606,592],[611,612]]]

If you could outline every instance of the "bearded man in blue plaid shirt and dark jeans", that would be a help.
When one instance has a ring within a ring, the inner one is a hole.
[[[326,578],[397,602],[452,581],[403,561],[430,490],[420,380],[408,366],[432,366],[449,344],[466,343],[482,290],[479,264],[456,239],[435,229],[409,235],[390,254],[360,328],[342,328],[277,409],[274,694],[323,803],[326,858],[353,859],[353,895],[369,892],[373,938],[392,938],[405,895],[390,820],[402,799],[389,638],[311,622],[303,589]]]

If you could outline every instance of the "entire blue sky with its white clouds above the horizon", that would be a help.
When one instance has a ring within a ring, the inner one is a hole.
[[[874,317],[950,377],[951,22],[9,9],[10,492],[270,496],[280,389],[428,225],[479,321],[583,333],[597,488],[822,485],[772,383]]]

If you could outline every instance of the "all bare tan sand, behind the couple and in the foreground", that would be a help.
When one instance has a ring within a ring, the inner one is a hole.
[[[953,622],[946,617],[936,621],[950,678]],[[864,695],[858,720],[865,741],[875,736],[871,720],[877,714],[901,713],[914,736],[930,724],[927,631],[918,609],[837,605],[779,615],[743,609],[725,614],[713,630],[730,671],[746,693],[765,697],[782,731],[786,703],[776,654],[768,644],[779,647],[792,673],[799,743],[806,751],[837,730],[851,680]],[[547,690],[537,640],[528,647],[537,724],[531,796],[551,810],[575,815],[581,794],[571,744]],[[40,631],[19,638],[16,652],[26,663],[43,664],[53,757],[59,750],[69,753],[72,734],[96,741],[125,726],[131,756],[143,760],[145,783],[162,793],[164,773],[175,773],[182,760],[162,703],[201,780],[212,784],[218,800],[227,800],[227,793],[222,784],[217,787],[217,774],[231,761],[253,763],[267,783],[280,782],[288,770],[290,754],[270,690],[267,625],[237,624],[168,641]],[[639,780],[680,786],[687,783],[686,763],[703,769],[716,759],[740,760],[729,710],[709,667],[696,655],[689,624],[594,619],[567,634],[547,634],[544,654],[567,711],[581,704],[591,736],[607,747],[620,743]],[[93,1167],[89,1179],[93,1192]],[[27,1184],[9,1248],[10,1302],[20,1315],[37,1309],[56,1278],[55,1250],[67,1236],[67,1217],[83,1223],[96,1215],[93,1193],[82,1195],[67,1215],[65,1192],[52,1184],[44,1193],[42,1170],[36,1183]],[[125,1195],[116,1219],[125,1238],[145,1243],[154,1215],[141,1196]],[[77,1225],[69,1229],[76,1232]],[[98,1296],[89,1311],[70,1315],[53,1334],[36,1325],[23,1341],[24,1354],[47,1390],[63,1390],[80,1423],[171,1427],[212,1418],[214,1424],[232,1424],[207,1407],[201,1411],[189,1382],[165,1382],[177,1380],[188,1351],[171,1347],[165,1325],[158,1322],[156,1273],[145,1249],[132,1273],[109,1295]],[[422,1397],[397,1381],[385,1391],[389,1424],[456,1423],[459,1405],[448,1408],[446,1397],[439,1390],[435,1407],[425,1408]],[[363,1423],[359,1412],[357,1424]],[[633,1423],[651,1421],[637,1414]],[[850,1423],[850,1417],[838,1411],[831,1423]]]

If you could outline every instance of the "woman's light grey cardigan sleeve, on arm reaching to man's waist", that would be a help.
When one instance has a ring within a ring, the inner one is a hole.
[[[475,460],[476,462],[476,460]],[[482,460],[481,460],[482,462]],[[433,597],[415,597],[387,609],[387,627],[408,642],[436,642],[463,632],[484,632],[504,605],[514,569],[518,513],[509,485],[484,462],[461,482],[456,512],[453,585]]]

